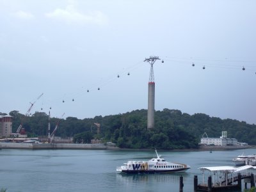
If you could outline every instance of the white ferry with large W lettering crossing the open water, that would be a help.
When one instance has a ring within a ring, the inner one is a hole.
[[[157,154],[157,158],[149,161],[128,161],[122,166],[116,168],[120,173],[182,173],[191,168],[187,164],[172,163],[165,161]]]

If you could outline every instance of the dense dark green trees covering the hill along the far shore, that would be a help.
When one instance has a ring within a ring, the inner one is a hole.
[[[5,115],[5,113],[1,113]],[[29,137],[47,136],[48,115],[36,112],[25,116],[19,111],[11,111],[12,131],[20,122]],[[118,115],[95,116],[94,118],[67,117],[51,118],[51,130],[60,121],[56,136],[73,138],[74,143],[113,142],[120,148],[159,148],[165,150],[199,149],[198,143],[204,132],[209,137],[219,137],[221,131],[227,131],[229,138],[236,138],[249,145],[256,145],[256,125],[238,120],[210,117],[203,113],[189,115],[176,109],[163,109],[155,113],[155,127],[147,130],[147,110],[140,109]],[[97,132],[95,123],[100,124]]]

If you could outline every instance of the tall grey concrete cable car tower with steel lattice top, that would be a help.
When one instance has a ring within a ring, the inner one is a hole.
[[[154,128],[154,113],[155,113],[155,82],[154,82],[154,70],[153,65],[156,60],[160,60],[159,57],[150,56],[150,58],[145,58],[150,64],[150,75],[148,81],[148,124],[147,128]]]

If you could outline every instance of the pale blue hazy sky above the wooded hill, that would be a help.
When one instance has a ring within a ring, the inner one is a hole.
[[[63,118],[147,109],[144,60],[159,56],[156,110],[256,124],[255,7],[255,0],[0,0],[0,112],[25,114],[30,102],[32,114],[51,108]]]

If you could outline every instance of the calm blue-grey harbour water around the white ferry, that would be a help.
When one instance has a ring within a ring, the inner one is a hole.
[[[255,154],[256,149],[170,152],[159,151],[166,161],[189,164],[187,173],[125,175],[116,173],[129,159],[156,157],[152,151],[115,150],[0,150],[0,188],[17,191],[193,191],[193,177],[202,166],[234,166],[232,158]]]

